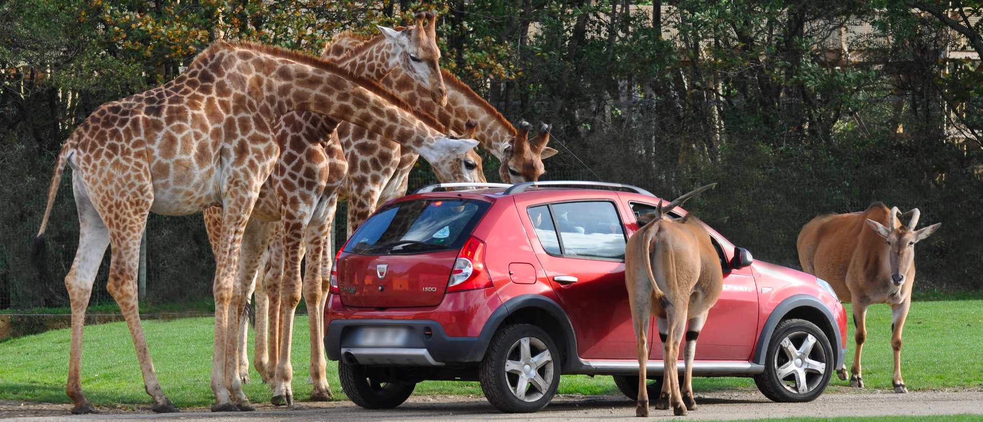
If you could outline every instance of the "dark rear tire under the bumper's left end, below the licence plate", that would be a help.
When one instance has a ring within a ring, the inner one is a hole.
[[[355,404],[367,409],[391,409],[402,404],[417,388],[415,383],[386,383],[366,365],[338,362],[341,390]]]

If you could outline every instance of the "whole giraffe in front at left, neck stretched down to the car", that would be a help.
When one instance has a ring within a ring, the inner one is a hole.
[[[99,106],[62,146],[31,252],[43,256],[44,230],[69,165],[80,220],[79,249],[65,278],[72,301],[66,393],[75,402],[73,413],[95,411],[82,391],[82,334],[92,282],[109,244],[107,290],[127,321],[152,409],[177,410],[157,382],[140,323],[141,235],[149,212],[189,215],[213,205],[222,206],[222,223],[212,287],[212,410],[255,409],[242,392],[236,364],[245,298],[234,283],[243,232],[279,155],[271,123],[291,111],[324,113],[332,123],[365,126],[437,161],[478,143],[448,138],[432,117],[331,63],[248,43],[217,41],[178,78]]]

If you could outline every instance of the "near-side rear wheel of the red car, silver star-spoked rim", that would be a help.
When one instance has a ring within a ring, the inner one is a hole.
[[[495,333],[482,360],[482,391],[505,413],[539,411],[556,394],[559,358],[556,344],[543,329],[506,326]]]

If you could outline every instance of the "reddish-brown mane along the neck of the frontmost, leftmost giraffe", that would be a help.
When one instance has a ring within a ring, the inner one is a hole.
[[[216,41],[212,43],[206,50],[204,50],[202,54],[199,55],[198,58],[196,58],[195,61],[192,62],[191,66],[189,67],[195,66],[196,63],[204,60],[203,57],[211,56],[216,51],[226,50],[226,49],[237,49],[237,48],[256,51],[262,54],[268,54],[270,56],[279,57],[281,59],[287,59],[293,62],[300,63],[302,65],[307,65],[313,68],[320,69],[322,71],[327,71],[332,74],[336,74],[342,78],[351,80],[352,82],[355,82],[355,84],[363,88],[366,88],[370,92],[382,97],[382,99],[386,100],[392,105],[399,107],[400,109],[402,109],[407,113],[412,114],[413,117],[416,117],[425,125],[431,127],[431,129],[434,129],[434,131],[440,133],[447,133],[447,129],[442,124],[440,124],[440,122],[438,122],[434,118],[434,116],[431,116],[430,114],[420,111],[417,108],[411,106],[406,101],[403,101],[401,98],[396,96],[396,94],[392,93],[392,91],[380,86],[375,81],[352,75],[345,69],[339,67],[338,65],[335,65],[330,61],[322,60],[318,57],[311,56],[304,52],[288,50],[286,48],[277,47],[273,45],[255,44],[252,42]]]

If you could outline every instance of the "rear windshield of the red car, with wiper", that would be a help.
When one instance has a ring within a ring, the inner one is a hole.
[[[489,203],[475,199],[417,199],[376,211],[345,252],[363,255],[424,253],[460,248],[485,215]]]

